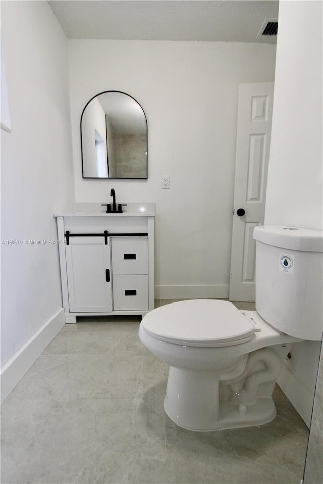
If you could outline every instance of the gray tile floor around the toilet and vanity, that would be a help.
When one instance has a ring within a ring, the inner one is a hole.
[[[181,429],[139,322],[81,319],[53,339],[2,405],[2,484],[299,484],[308,430],[280,389],[267,425]]]

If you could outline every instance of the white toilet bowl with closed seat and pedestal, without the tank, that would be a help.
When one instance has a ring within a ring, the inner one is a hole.
[[[207,299],[151,311],[139,337],[170,365],[165,412],[177,425],[197,431],[270,422],[286,345],[300,341],[276,331],[255,311]]]

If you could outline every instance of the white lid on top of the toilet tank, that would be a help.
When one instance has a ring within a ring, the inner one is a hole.
[[[253,238],[270,246],[294,251],[323,252],[323,231],[288,225],[260,225]]]

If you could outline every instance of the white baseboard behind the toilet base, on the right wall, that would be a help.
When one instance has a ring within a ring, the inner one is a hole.
[[[314,393],[311,393],[301,380],[296,378],[285,365],[283,365],[282,373],[277,379],[277,384],[309,428]]]

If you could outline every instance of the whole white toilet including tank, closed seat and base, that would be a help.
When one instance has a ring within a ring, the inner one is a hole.
[[[142,343],[170,365],[165,411],[186,429],[270,422],[292,344],[322,337],[323,232],[259,226],[254,238],[256,311],[187,300],[154,309],[140,324]]]

